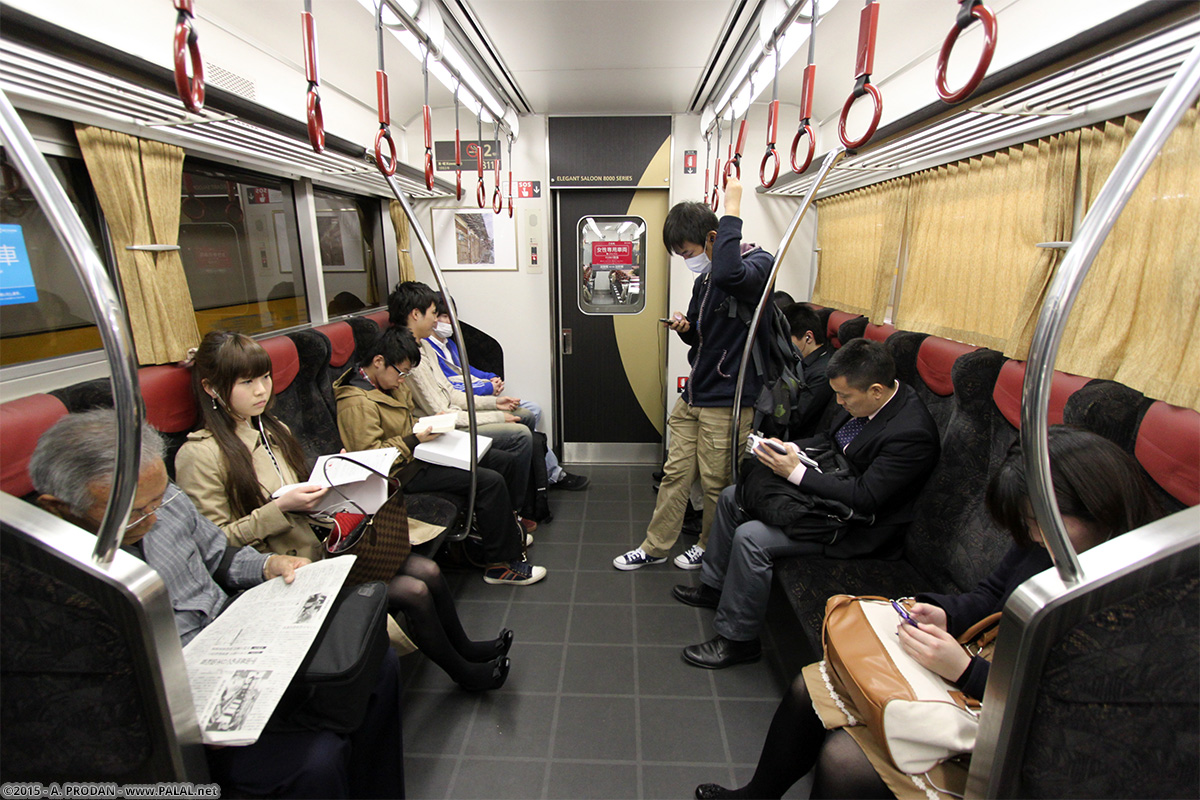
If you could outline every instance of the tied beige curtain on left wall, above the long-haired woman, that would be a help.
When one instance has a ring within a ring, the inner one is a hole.
[[[96,127],[76,126],[88,173],[113,240],[138,363],[180,361],[200,341],[178,245],[184,151]]]

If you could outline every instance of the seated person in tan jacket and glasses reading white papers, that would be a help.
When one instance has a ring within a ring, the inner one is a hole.
[[[364,360],[361,367],[334,381],[342,443],[350,450],[398,449],[392,474],[406,492],[466,494],[470,473],[428,464],[413,456],[420,443],[439,435],[430,428],[413,432],[413,399],[404,385],[404,378],[421,361],[413,335],[406,327],[389,327],[367,348]],[[546,577],[545,567],[534,566],[523,557],[524,531],[514,510],[524,498],[512,492],[521,470],[512,453],[497,447],[487,451],[476,470],[475,518],[487,561],[484,571],[487,583],[523,587]]]

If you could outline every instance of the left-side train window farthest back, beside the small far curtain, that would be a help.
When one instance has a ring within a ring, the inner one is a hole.
[[[378,306],[386,278],[376,263],[379,204],[366,198],[313,191],[320,272],[330,317]],[[384,283],[380,283],[384,281]]]

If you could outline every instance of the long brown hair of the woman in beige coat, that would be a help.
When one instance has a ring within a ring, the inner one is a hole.
[[[241,333],[209,331],[196,350],[192,392],[200,410],[200,427],[212,434],[224,459],[226,497],[229,498],[229,507],[239,517],[266,505],[269,498],[254,473],[250,449],[238,438],[238,419],[229,411],[229,395],[239,380],[258,378],[269,372],[271,356],[262,344]],[[216,392],[216,402],[204,391],[204,381]],[[274,404],[272,391],[258,421],[271,446],[283,455],[292,471],[304,479],[308,473],[304,450],[292,432],[270,415]]]

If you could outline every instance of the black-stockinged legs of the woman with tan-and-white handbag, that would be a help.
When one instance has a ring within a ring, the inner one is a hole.
[[[814,766],[814,799],[893,796],[848,733],[826,730],[812,709],[804,676],[797,675],[770,721],[754,777],[726,796],[781,798]]]

